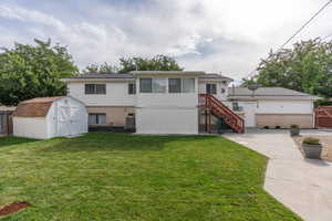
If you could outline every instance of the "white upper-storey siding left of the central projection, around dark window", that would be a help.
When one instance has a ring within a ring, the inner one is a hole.
[[[69,82],[69,95],[86,106],[135,106],[136,96],[128,94],[129,82]],[[85,84],[106,84],[106,94],[85,94]]]

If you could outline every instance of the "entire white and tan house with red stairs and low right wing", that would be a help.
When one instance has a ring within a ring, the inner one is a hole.
[[[315,97],[284,88],[259,88],[252,97],[247,88],[229,88],[232,80],[219,74],[134,71],[63,81],[69,95],[86,105],[90,128],[124,127],[129,117],[135,117],[138,134],[210,133],[218,124],[243,133],[245,127],[301,126],[303,118],[303,126],[313,127],[309,116]],[[277,125],[280,114],[287,118]]]

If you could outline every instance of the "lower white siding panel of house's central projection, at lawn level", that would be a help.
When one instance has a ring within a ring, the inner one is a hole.
[[[137,134],[198,134],[197,108],[138,108]]]

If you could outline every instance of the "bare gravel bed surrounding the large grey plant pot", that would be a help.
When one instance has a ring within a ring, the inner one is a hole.
[[[320,139],[321,144],[323,145],[322,156],[321,156],[322,159],[332,161],[332,136],[326,136],[326,135],[303,135],[302,136],[301,135],[301,136],[292,137],[303,156],[304,152],[301,148],[301,144],[305,137],[314,137]]]

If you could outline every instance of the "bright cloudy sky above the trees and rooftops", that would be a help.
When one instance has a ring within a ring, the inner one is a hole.
[[[240,80],[326,0],[0,0],[0,46],[66,45],[79,67],[166,54]],[[290,44],[332,34],[330,4]],[[332,40],[332,35],[325,40]]]

